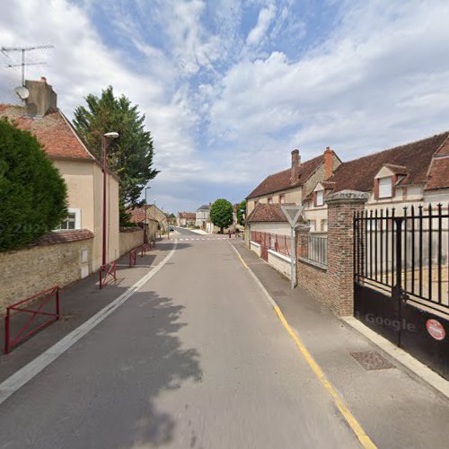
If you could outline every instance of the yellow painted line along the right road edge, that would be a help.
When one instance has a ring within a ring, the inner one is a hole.
[[[260,286],[262,292],[264,295],[268,298],[269,304],[272,305],[275,313],[277,314],[277,318],[282,322],[284,325],[284,328],[290,335],[290,337],[295,341],[295,345],[299,350],[301,351],[301,354],[303,355],[305,361],[307,364],[312,368],[313,373],[318,377],[318,379],[321,382],[321,385],[330,393],[330,396],[332,400],[334,401],[336,407],[339,409],[340,413],[343,415],[343,418],[345,418],[348,422],[349,427],[351,427],[352,431],[356,434],[358,441],[363,445],[366,449],[375,449],[376,445],[374,445],[373,441],[369,436],[366,435],[365,430],[357,421],[357,418],[351,413],[351,411],[348,409],[348,406],[345,404],[345,401],[341,398],[339,393],[335,390],[335,388],[332,386],[332,384],[328,381],[326,378],[326,375],[321,370],[321,366],[318,365],[314,358],[312,357],[311,353],[305,348],[303,342],[301,339],[296,335],[295,331],[290,327],[288,324],[288,321],[286,321],[286,317],[284,316],[284,313],[281,312],[279,306],[277,305],[276,301],[269,295],[269,291],[263,286],[263,284],[260,282],[259,278],[252,272],[250,267],[246,264],[246,262],[243,260],[242,256],[240,255],[240,252],[235,249],[233,244],[231,244],[231,247],[233,248],[233,251],[236,252],[239,259],[242,261],[243,266],[245,269],[248,269],[249,273],[251,274],[251,277],[253,277],[256,280],[256,283],[258,286]]]

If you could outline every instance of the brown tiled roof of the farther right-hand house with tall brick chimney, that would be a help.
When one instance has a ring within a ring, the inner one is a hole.
[[[304,185],[305,181],[310,178],[313,172],[318,168],[318,166],[323,162],[324,158],[322,154],[320,156],[314,157],[309,161],[300,163],[298,167],[298,180],[292,185],[290,176],[292,174],[291,169],[284,170],[282,172],[277,172],[269,175],[265,180],[260,182],[256,189],[252,190],[250,195],[246,197],[247,199],[260,197],[262,195],[268,195],[269,193],[274,193],[279,190],[292,189],[294,187]]]

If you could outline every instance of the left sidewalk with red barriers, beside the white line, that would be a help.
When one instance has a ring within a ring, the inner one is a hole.
[[[178,244],[179,249],[182,246],[188,246],[188,244]],[[172,248],[172,241],[158,240],[156,247],[147,252],[144,257],[141,257],[140,253],[137,255],[136,265],[131,268],[128,265],[128,253],[125,254],[117,260],[117,283],[105,286],[101,290],[98,285],[98,272],[85,277],[72,286],[61,289],[59,293],[61,318],[13,348],[8,355],[3,353],[4,318],[2,317],[0,320],[0,383],[112,303],[129,286],[134,285],[148,271],[157,267]],[[12,320],[12,334],[18,330],[21,322],[23,322],[21,318]],[[127,330],[120,331],[126,332]]]

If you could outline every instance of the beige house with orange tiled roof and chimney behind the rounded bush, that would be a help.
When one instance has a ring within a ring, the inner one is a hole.
[[[92,256],[82,277],[100,269],[102,252],[101,163],[77,135],[70,121],[57,108],[57,93],[40,81],[26,81],[30,92],[23,106],[0,104],[0,119],[10,119],[17,128],[37,137],[67,185],[68,215],[60,230],[89,230],[93,234]],[[119,180],[107,177],[107,261],[119,258]]]

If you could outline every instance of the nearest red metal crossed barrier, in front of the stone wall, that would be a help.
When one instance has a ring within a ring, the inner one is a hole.
[[[38,298],[41,297],[40,304],[38,303]],[[44,312],[42,308],[49,304],[52,298],[55,298],[55,312]],[[30,309],[26,306],[22,306],[25,303],[35,302],[39,304],[36,309]],[[22,306],[22,307],[21,307]],[[16,313],[31,313],[31,317],[28,321],[23,324],[22,328],[17,332],[15,337],[11,336],[11,318],[12,312]],[[40,323],[36,328],[31,329],[31,324],[36,320],[38,315],[48,316],[49,319]],[[4,317],[4,353],[9,354],[11,349],[16,346],[21,341],[28,339],[31,335],[35,334],[45,326],[48,326],[53,321],[57,321],[59,318],[59,288],[58,286],[53,286],[48,288],[48,290],[44,290],[43,292],[38,293],[37,295],[32,295],[29,298],[23,299],[18,303],[13,305],[9,305],[6,307],[6,316]],[[28,331],[27,331],[28,330]]]

